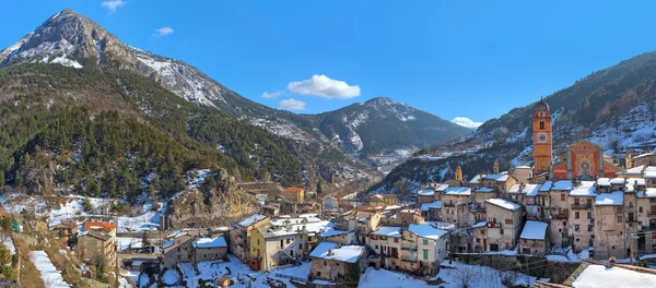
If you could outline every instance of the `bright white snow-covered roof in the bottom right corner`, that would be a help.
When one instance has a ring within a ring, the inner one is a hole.
[[[656,287],[656,275],[617,266],[588,265],[572,283],[572,287]]]

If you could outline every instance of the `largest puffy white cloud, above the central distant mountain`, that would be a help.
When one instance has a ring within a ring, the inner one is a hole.
[[[360,86],[350,86],[347,82],[318,74],[308,80],[290,82],[288,89],[295,94],[314,95],[329,99],[349,99],[360,96]]]

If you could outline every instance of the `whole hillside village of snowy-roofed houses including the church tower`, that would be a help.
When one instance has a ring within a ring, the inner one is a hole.
[[[20,254],[26,248],[12,239],[56,241],[60,255],[79,261],[81,276],[121,287],[370,287],[380,279],[477,287],[471,275],[480,274],[490,280],[485,287],[587,287],[611,272],[656,285],[649,269],[656,153],[610,158],[581,141],[554,157],[548,113],[539,103],[536,167],[500,171],[495,163],[493,173],[469,180],[458,168],[454,179],[425,187],[410,203],[395,194],[363,201],[284,188],[271,197],[257,194],[259,212],[232,225],[185,229],[172,229],[165,205],[149,214],[150,223],[129,228],[116,217],[79,212],[26,217],[24,207],[5,203],[15,214],[0,215],[13,232],[3,243]],[[211,173],[198,175],[191,189]],[[26,253],[44,283],[69,287],[69,268],[54,265],[48,249]],[[11,263],[17,269],[20,261]]]

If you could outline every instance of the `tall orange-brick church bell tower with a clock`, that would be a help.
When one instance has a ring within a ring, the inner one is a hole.
[[[549,105],[542,96],[536,104],[532,119],[534,128],[534,175],[548,171],[553,161],[553,143],[551,139],[551,113]]]

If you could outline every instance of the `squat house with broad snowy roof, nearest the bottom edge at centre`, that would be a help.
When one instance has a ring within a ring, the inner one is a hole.
[[[360,275],[366,269],[366,248],[362,245],[342,245],[333,242],[321,242],[309,254],[312,268],[311,280],[331,283],[358,283]]]

